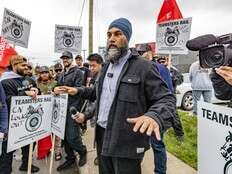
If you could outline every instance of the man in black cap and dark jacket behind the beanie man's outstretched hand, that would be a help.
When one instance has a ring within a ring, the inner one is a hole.
[[[58,85],[65,85],[71,87],[80,87],[83,83],[83,73],[81,70],[72,65],[73,55],[71,52],[65,51],[60,57],[63,61],[64,71],[58,76]],[[76,162],[76,155],[74,150],[79,153],[79,166],[83,166],[86,163],[86,147],[82,143],[80,136],[80,126],[75,120],[72,119],[70,108],[73,106],[80,110],[82,101],[80,98],[73,96],[68,97],[68,110],[66,117],[64,148],[67,154],[66,161],[61,164],[57,171],[61,171],[69,168]]]

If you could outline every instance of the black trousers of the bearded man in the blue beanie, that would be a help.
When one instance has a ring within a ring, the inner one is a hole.
[[[128,159],[101,155],[104,128],[96,127],[99,174],[141,174],[142,159]]]

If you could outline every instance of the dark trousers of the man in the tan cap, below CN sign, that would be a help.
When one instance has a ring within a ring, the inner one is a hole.
[[[22,149],[22,163],[27,164],[29,156],[29,145]],[[0,173],[10,174],[12,172],[13,153],[7,153],[7,141],[2,144],[2,155],[0,156]]]

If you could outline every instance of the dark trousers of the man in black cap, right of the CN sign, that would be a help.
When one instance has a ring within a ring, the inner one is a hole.
[[[66,120],[64,149],[67,154],[67,160],[76,159],[74,150],[78,152],[79,155],[84,155],[87,151],[86,146],[83,145],[80,135],[80,126],[71,118],[70,115],[67,115]]]

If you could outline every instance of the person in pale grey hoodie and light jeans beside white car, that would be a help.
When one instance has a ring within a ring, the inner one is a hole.
[[[213,87],[209,78],[209,69],[201,68],[199,61],[190,66],[189,73],[194,102],[193,114],[197,115],[197,102],[201,99],[201,95],[205,102],[211,102]]]

